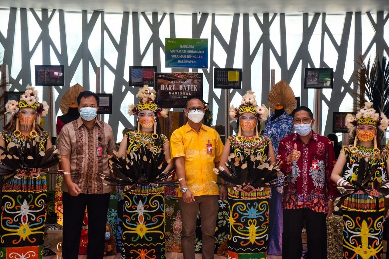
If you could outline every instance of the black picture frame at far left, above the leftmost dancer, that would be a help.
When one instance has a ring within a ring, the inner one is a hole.
[[[35,65],[35,86],[64,86],[63,65]]]

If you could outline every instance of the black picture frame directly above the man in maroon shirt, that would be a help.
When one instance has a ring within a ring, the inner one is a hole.
[[[332,89],[334,83],[333,68],[305,68],[305,89]]]

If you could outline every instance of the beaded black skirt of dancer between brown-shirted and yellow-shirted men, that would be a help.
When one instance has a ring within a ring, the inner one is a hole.
[[[121,258],[166,257],[163,189],[140,186],[124,194]]]

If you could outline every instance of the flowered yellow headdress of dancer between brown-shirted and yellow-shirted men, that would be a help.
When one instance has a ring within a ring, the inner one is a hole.
[[[141,110],[152,110],[158,117],[168,117],[168,111],[163,108],[159,108],[158,105],[154,102],[156,98],[156,91],[149,88],[147,84],[141,87],[136,95],[140,100],[136,105],[128,105],[128,114],[134,115],[138,114]],[[154,118],[155,119],[155,118]],[[154,133],[151,135],[153,139],[158,138],[156,134],[156,124],[157,121],[154,121]],[[140,138],[142,134],[140,133],[140,123],[138,122],[138,131],[135,133],[135,138]]]

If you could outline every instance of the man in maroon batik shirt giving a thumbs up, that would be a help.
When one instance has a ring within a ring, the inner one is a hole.
[[[307,227],[307,258],[327,258],[326,217],[333,212],[329,199],[338,191],[330,176],[335,164],[332,142],[314,131],[312,111],[296,108],[294,133],[281,140],[278,157],[286,178],[282,205],[284,207],[282,258],[300,259],[303,245],[303,221]]]

